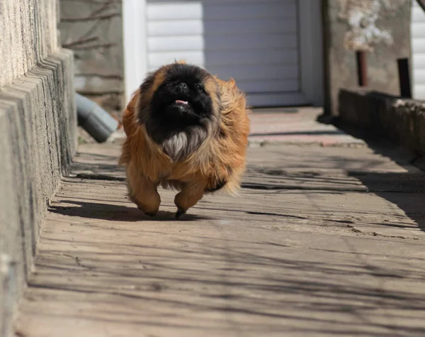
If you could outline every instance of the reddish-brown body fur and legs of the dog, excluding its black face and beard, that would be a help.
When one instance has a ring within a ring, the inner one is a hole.
[[[157,72],[148,92],[137,90],[133,94],[123,114],[127,138],[120,164],[126,167],[130,198],[142,211],[151,215],[157,213],[161,203],[157,192],[159,184],[180,191],[175,198],[180,214],[194,206],[205,190],[213,189],[220,181],[227,182],[223,187],[225,191],[231,194],[237,192],[245,168],[248,143],[249,118],[244,94],[233,79],[225,82],[215,77],[220,89],[222,136],[207,138],[186,160],[173,162],[149,138],[137,116],[137,111],[149,104],[154,90],[164,81],[166,67],[164,71]],[[211,91],[216,84],[205,83],[205,88],[212,97]]]

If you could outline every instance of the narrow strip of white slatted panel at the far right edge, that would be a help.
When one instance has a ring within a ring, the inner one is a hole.
[[[415,99],[425,99],[425,12],[412,1],[412,82]]]

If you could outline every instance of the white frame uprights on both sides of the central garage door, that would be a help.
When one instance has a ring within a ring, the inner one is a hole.
[[[322,0],[297,0],[300,83],[307,104],[322,106]],[[147,0],[123,0],[125,100],[129,101],[147,75]]]

